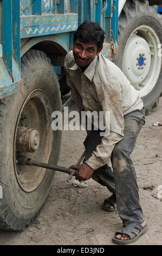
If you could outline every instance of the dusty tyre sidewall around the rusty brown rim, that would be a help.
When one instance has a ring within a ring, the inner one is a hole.
[[[28,77],[25,78],[22,92],[7,97],[5,101],[7,117],[5,117],[5,129],[2,130],[1,145],[1,162],[3,163],[1,175],[3,183],[6,185],[3,186],[4,199],[7,201],[13,214],[17,218],[22,219],[29,219],[40,210],[48,196],[54,176],[52,172],[47,170],[40,186],[33,192],[27,193],[18,185],[14,171],[13,147],[11,145],[14,145],[16,121],[24,100],[36,88],[46,92],[51,103],[52,112],[55,110],[61,111],[60,90],[57,79],[50,66],[48,69],[46,62],[44,62],[44,66],[41,65],[41,68],[35,68],[33,72],[28,74]],[[60,152],[61,131],[55,131],[53,134],[54,146],[51,150],[49,163],[56,165],[59,157],[58,153]]]

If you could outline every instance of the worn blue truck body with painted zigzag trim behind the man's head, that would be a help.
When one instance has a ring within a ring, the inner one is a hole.
[[[21,57],[40,42],[51,42],[65,56],[85,20],[98,21],[105,29],[105,57],[110,33],[118,41],[118,0],[1,0],[0,10],[0,99],[23,89]],[[55,70],[60,71],[58,66]]]

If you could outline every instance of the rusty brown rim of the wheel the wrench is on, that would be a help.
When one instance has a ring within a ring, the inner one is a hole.
[[[23,155],[41,162],[49,161],[53,145],[51,113],[50,101],[47,94],[42,89],[35,89],[23,102],[16,121],[14,135],[14,169],[17,182],[25,192],[36,190],[46,174],[46,169],[35,166],[20,166],[16,163],[16,159],[18,155]],[[40,144],[34,153],[17,150],[16,138],[19,126],[31,127],[38,131]]]

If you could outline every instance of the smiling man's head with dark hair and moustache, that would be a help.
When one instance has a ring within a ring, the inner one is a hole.
[[[77,28],[73,39],[73,54],[75,62],[82,69],[93,62],[103,47],[105,32],[99,23],[85,21]]]

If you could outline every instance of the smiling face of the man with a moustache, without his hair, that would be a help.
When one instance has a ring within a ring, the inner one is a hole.
[[[91,62],[93,62],[96,55],[101,52],[102,48],[99,48],[96,42],[87,42],[83,44],[79,40],[73,41],[73,55],[75,62],[80,68],[85,70]]]

